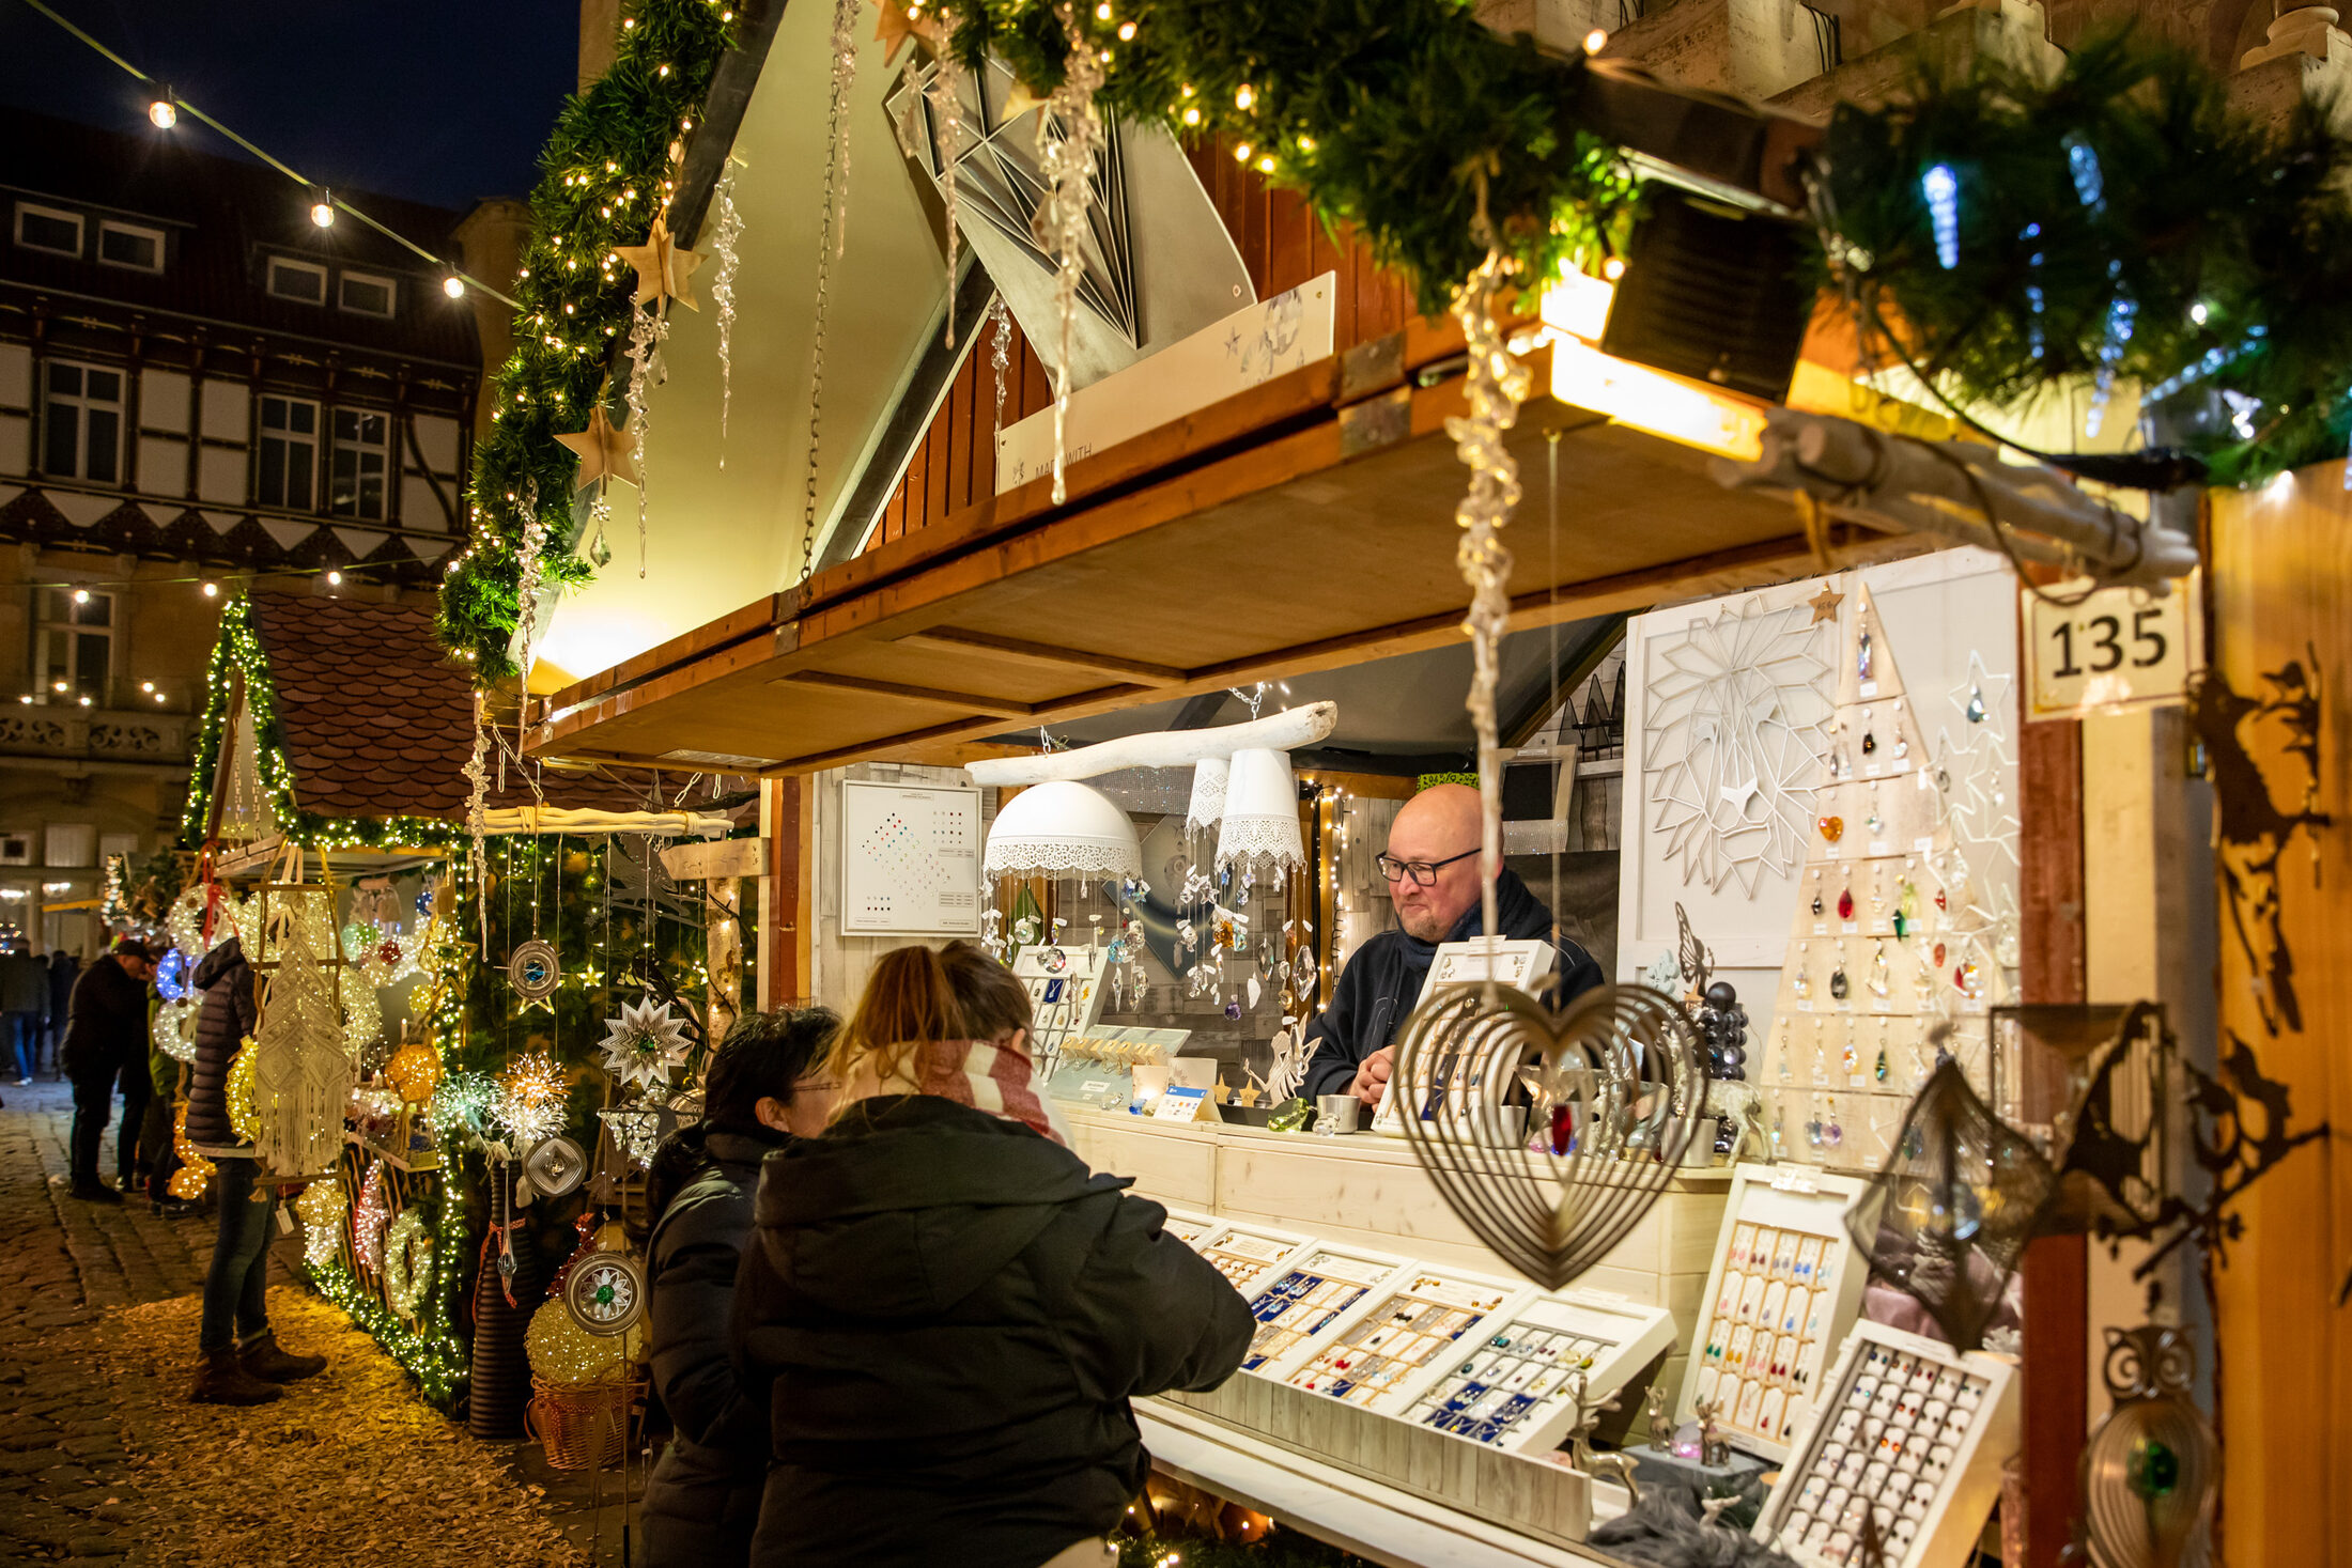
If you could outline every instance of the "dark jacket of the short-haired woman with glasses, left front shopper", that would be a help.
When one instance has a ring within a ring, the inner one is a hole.
[[[677,1427],[644,1483],[644,1561],[654,1568],[750,1561],[767,1481],[767,1399],[743,1387],[729,1324],[760,1161],[783,1143],[786,1133],[764,1126],[701,1133],[703,1166],[661,1211],[647,1246],[654,1392]]]

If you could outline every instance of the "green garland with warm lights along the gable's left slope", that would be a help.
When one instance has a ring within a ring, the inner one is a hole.
[[[572,555],[579,458],[555,437],[581,430],[607,367],[628,341],[635,273],[614,263],[644,235],[677,179],[670,143],[691,136],[727,52],[734,0],[630,0],[619,52],[564,103],[541,153],[532,237],[515,280],[515,353],[489,388],[492,425],[475,444],[473,543],[440,590],[440,639],[477,665],[477,682],[515,677],[522,529],[536,524],[550,588],[586,583]],[[621,371],[614,371],[621,374]],[[524,501],[536,496],[536,517]]]

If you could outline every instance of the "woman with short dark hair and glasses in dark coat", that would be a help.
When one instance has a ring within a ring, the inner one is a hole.
[[[729,1359],[736,1265],[760,1161],[826,1128],[833,1086],[816,1074],[837,1027],[821,1006],[736,1023],[710,1058],[703,1119],[654,1154],[647,1312],[654,1387],[677,1427],[644,1486],[644,1561],[654,1568],[739,1568],[750,1559],[767,1479],[767,1401],[743,1389]]]

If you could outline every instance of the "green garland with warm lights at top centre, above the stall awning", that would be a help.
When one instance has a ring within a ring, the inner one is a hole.
[[[938,0],[955,54],[1058,87],[1061,0]],[[1108,14],[1105,14],[1108,12]],[[1112,0],[1068,5],[1103,61],[1096,103],[1235,155],[1355,223],[1442,313],[1496,242],[1524,277],[1613,247],[1632,202],[1618,150],[1562,122],[1583,59],[1489,31],[1463,0]]]

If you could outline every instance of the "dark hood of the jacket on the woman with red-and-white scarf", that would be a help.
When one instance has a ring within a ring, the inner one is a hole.
[[[1127,1185],[1018,1121],[887,1095],[769,1154],[755,1222],[790,1291],[833,1312],[915,1319],[993,1279],[1058,1206]]]

